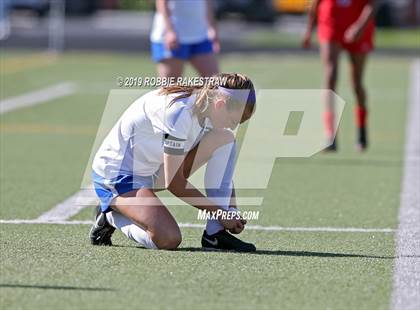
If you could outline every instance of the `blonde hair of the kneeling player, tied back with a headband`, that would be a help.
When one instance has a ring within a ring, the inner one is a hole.
[[[171,85],[163,87],[160,91],[161,95],[179,94],[173,98],[170,104],[183,98],[190,97],[193,93],[197,93],[197,98],[194,102],[194,113],[199,114],[207,110],[209,102],[216,96],[221,96],[226,100],[227,107],[233,108],[235,100],[229,98],[225,94],[215,91],[218,86],[228,89],[247,89],[254,92],[254,84],[251,79],[246,75],[239,73],[220,73],[214,75],[211,79],[207,79],[206,83],[201,86],[188,86],[188,85]],[[243,103],[242,103],[243,104]],[[255,102],[252,104],[247,103],[247,113],[252,114],[255,110]],[[245,113],[245,112],[244,112]]]

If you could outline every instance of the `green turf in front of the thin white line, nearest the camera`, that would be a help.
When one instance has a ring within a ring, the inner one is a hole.
[[[392,234],[246,232],[255,254],[92,247],[87,226],[2,225],[5,309],[383,309]],[[4,238],[4,237],[3,237]]]

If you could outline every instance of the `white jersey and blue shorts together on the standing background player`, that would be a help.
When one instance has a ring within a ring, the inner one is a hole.
[[[166,48],[164,19],[162,14],[156,12],[150,34],[152,58],[155,62],[167,58],[189,60],[195,55],[213,52],[207,35],[206,0],[168,0],[168,9],[179,46],[173,50]]]

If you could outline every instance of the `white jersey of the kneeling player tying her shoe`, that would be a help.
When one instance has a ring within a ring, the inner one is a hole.
[[[165,152],[186,153],[212,126],[200,126],[193,113],[195,95],[170,101],[179,94],[151,91],[137,99],[111,129],[93,160],[92,168],[105,179],[119,175],[151,176],[163,164]]]

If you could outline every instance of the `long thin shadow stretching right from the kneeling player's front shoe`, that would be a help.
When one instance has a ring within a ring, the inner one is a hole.
[[[211,251],[203,248],[179,248],[175,251],[180,252],[205,252],[205,253],[232,253],[232,251]],[[236,252],[238,253],[238,252]],[[241,254],[241,253],[238,253]],[[279,255],[279,256],[297,256],[297,257],[326,257],[326,258],[374,258],[374,259],[395,259],[394,256],[376,256],[363,254],[347,254],[347,253],[330,253],[330,252],[310,252],[310,251],[280,251],[280,250],[257,250],[251,253],[244,253],[251,255]]]

